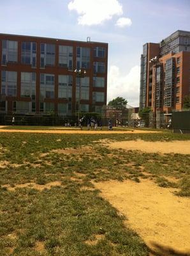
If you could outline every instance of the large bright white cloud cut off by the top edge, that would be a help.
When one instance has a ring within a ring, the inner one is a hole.
[[[98,25],[114,15],[122,15],[122,4],[118,0],[73,0],[68,4],[70,11],[77,11],[78,24]]]

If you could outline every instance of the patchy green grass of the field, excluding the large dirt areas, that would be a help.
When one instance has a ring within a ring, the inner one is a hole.
[[[0,134],[1,255],[149,255],[94,182],[151,179],[190,196],[190,156],[112,149],[105,140],[180,134]],[[104,143],[103,143],[104,142]]]

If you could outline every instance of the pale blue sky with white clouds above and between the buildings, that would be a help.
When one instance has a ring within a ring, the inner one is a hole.
[[[139,104],[140,54],[190,30],[190,0],[0,0],[0,33],[108,43],[108,101]]]

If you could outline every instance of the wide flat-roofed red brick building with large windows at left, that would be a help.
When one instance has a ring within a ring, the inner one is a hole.
[[[0,60],[1,112],[66,116],[79,101],[82,112],[106,104],[108,44],[0,34]]]

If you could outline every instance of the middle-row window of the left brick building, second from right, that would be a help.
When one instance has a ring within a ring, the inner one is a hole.
[[[89,77],[77,77],[76,99],[89,100]]]

